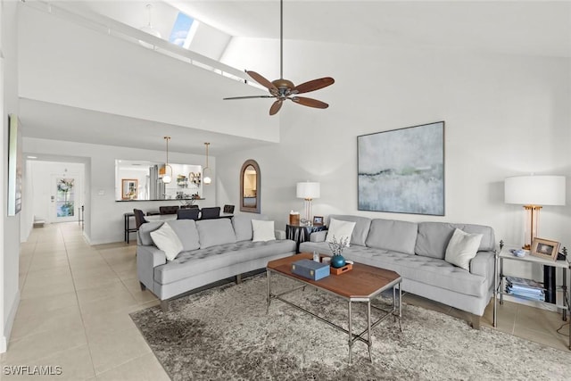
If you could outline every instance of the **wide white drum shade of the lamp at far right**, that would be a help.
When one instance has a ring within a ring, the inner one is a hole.
[[[514,176],[504,182],[505,203],[565,205],[565,176]]]

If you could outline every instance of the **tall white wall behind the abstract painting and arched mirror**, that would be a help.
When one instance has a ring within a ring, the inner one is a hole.
[[[225,57],[256,68],[269,42],[235,39]],[[258,45],[257,45],[258,44]],[[280,144],[219,155],[219,200],[237,203],[246,159],[261,167],[261,210],[285,227],[302,210],[295,183],[319,181],[313,214],[360,214],[411,221],[490,225],[496,238],[523,244],[523,209],[503,203],[503,179],[567,176],[567,206],[544,207],[541,236],[571,249],[571,70],[568,59],[393,48],[312,45],[288,41],[285,78],[299,83],[332,76],[335,84],[308,96],[330,104],[315,110],[288,103],[279,112]],[[294,57],[303,56],[298,63]],[[261,67],[260,70],[264,70]],[[269,70],[269,69],[268,69]],[[263,71],[265,72],[265,71]],[[269,78],[272,78],[271,76]],[[357,210],[357,136],[444,120],[444,217]]]

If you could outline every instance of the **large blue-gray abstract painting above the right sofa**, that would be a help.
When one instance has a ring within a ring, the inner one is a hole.
[[[357,137],[360,211],[444,215],[444,122]]]

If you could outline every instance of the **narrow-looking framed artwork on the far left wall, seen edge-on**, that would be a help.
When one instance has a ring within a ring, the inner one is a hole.
[[[20,120],[14,114],[8,115],[8,215],[21,211],[22,153]]]

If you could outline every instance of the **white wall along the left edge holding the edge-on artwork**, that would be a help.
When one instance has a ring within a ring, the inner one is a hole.
[[[8,114],[18,114],[18,69],[16,48],[16,2],[0,2],[0,153],[2,153],[3,179],[8,178]],[[4,58],[3,58],[4,57]],[[20,258],[21,214],[7,217],[7,186],[2,181],[2,204],[0,205],[0,352],[6,351],[13,319],[20,302],[18,288]],[[25,205],[22,205],[25,207]]]

